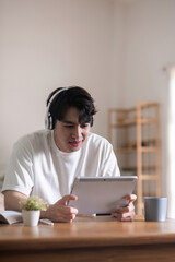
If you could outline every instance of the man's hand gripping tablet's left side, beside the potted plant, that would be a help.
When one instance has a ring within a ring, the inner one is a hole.
[[[68,206],[68,202],[77,199],[78,196],[73,194],[65,195],[55,204],[49,205],[47,211],[42,211],[42,218],[48,218],[52,222],[72,222],[78,214],[78,210]]]

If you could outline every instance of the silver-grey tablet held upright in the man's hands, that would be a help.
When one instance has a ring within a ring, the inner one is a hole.
[[[133,192],[136,181],[136,176],[77,177],[71,193],[78,200],[69,206],[78,209],[79,215],[110,214],[128,204],[124,196]]]

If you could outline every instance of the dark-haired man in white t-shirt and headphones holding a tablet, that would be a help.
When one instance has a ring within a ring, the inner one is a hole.
[[[20,210],[19,201],[38,195],[48,203],[42,218],[72,222],[78,210],[68,206],[77,176],[119,176],[112,145],[91,133],[96,109],[91,95],[79,86],[61,87],[47,99],[46,128],[20,139],[13,146],[2,192],[7,210]],[[132,202],[113,215],[131,221]]]

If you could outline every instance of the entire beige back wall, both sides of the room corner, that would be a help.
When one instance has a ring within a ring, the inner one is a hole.
[[[93,131],[104,136],[108,107],[161,104],[165,184],[174,13],[174,0],[0,0],[0,170],[19,136],[44,128],[48,93],[78,84],[94,96]]]

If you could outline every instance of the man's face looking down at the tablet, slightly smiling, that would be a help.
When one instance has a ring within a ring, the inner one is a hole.
[[[90,133],[90,123],[79,123],[79,111],[71,107],[62,121],[56,121],[54,139],[58,148],[71,153],[81,148]]]

